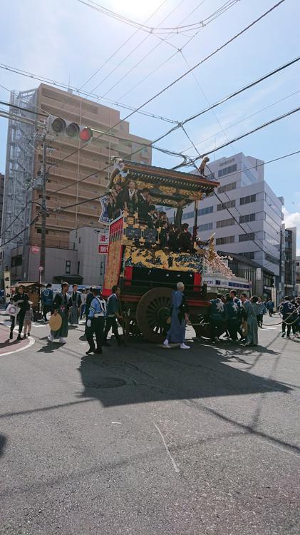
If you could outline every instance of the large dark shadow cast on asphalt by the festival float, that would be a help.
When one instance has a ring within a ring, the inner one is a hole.
[[[189,352],[140,345],[103,348],[103,355],[81,359],[78,370],[83,397],[95,397],[106,406],[155,402],[167,399],[197,399],[237,396],[259,392],[290,392],[286,384],[259,377],[249,370],[228,365],[221,347],[201,346],[195,342]],[[259,347],[259,353],[260,351]],[[242,362],[248,364],[245,360]],[[125,382],[116,387],[105,385],[112,378]]]

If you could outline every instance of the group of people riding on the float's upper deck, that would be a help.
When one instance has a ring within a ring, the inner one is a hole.
[[[108,217],[117,218],[123,210],[129,213],[138,213],[141,224],[147,225],[150,229],[156,229],[158,239],[162,249],[168,249],[175,253],[192,253],[192,234],[189,232],[189,225],[176,226],[170,223],[167,213],[157,210],[152,203],[150,190],[143,188],[138,190],[135,180],[130,180],[128,187],[122,183],[116,183],[109,193]]]

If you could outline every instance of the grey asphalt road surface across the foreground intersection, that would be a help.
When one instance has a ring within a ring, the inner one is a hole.
[[[83,325],[31,334],[0,355],[0,534],[299,535],[300,338],[83,357]]]

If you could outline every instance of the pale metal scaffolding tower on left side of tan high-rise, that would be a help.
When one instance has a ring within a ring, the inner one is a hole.
[[[21,232],[31,222],[32,189],[30,186],[34,178],[35,123],[37,122],[37,116],[31,111],[36,111],[36,103],[36,89],[19,93],[11,91],[9,112],[14,114],[14,117],[9,118],[7,132],[1,234],[3,267],[5,265],[10,267],[11,250],[23,245],[28,239],[29,230],[25,233]],[[13,106],[26,108],[29,111]],[[30,123],[22,122],[26,119],[29,119]]]

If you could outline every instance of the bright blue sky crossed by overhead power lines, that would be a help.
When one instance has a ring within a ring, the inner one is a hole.
[[[97,0],[130,19],[145,22],[155,9],[150,26],[172,27],[203,21],[225,0]],[[11,0],[6,4],[6,24],[1,28],[0,63],[24,69],[47,78],[80,87],[113,52],[135,31],[120,21],[90,9],[78,0]],[[162,5],[163,4],[163,5]],[[200,5],[202,4],[202,5]],[[84,86],[99,96],[139,106],[170,81],[187,70],[251,21],[267,11],[275,0],[239,0],[225,14],[204,26],[175,56],[148,74],[175,53],[187,41],[186,36],[172,35],[165,41],[138,31],[128,44],[108,61],[97,76]],[[198,7],[197,7],[198,6]],[[195,9],[197,8],[197,9]],[[192,15],[189,14],[195,10]],[[165,19],[164,22],[163,19]],[[182,21],[185,22],[182,23]],[[181,121],[192,113],[231,93],[249,81],[289,61],[300,53],[299,0],[286,0],[254,28],[247,31],[213,58],[186,76],[145,109]],[[192,35],[190,33],[190,35]],[[165,34],[160,35],[163,39]],[[147,39],[146,39],[147,38]],[[142,42],[143,41],[143,42]],[[152,49],[156,46],[156,49]],[[131,54],[130,54],[131,52]],[[126,56],[128,56],[126,58]],[[144,56],[148,54],[147,58]],[[135,68],[135,63],[140,64]],[[120,65],[118,66],[118,63]],[[113,73],[113,68],[118,66]],[[120,78],[133,69],[124,80]],[[144,81],[144,78],[148,78]],[[103,81],[103,78],[105,78]],[[196,78],[196,80],[195,80]],[[8,89],[25,90],[38,86],[37,81],[0,70],[0,84]],[[113,87],[115,86],[115,87]],[[294,94],[292,94],[294,93]],[[1,100],[9,92],[0,87]],[[280,101],[280,102],[278,102]],[[189,123],[187,131],[200,152],[220,145],[275,116],[299,106],[300,62],[267,81]],[[271,106],[270,106],[271,105]],[[267,106],[269,106],[267,108]],[[257,113],[259,112],[259,113]],[[125,112],[121,111],[121,117]],[[235,123],[238,123],[235,125]],[[217,151],[212,159],[243,151],[264,161],[300,149],[300,112],[232,146]],[[221,126],[220,126],[221,125]],[[232,126],[235,125],[235,126]],[[135,114],[130,130],[149,139],[167,131],[163,121]],[[0,118],[0,171],[4,172],[6,120]],[[223,131],[222,131],[223,129]],[[225,133],[224,133],[225,131]],[[182,131],[168,136],[160,146],[182,151],[190,142]],[[195,150],[190,151],[194,155]],[[177,159],[154,152],[153,163],[172,166]],[[288,224],[299,229],[300,249],[300,154],[265,167],[265,178],[277,195],[285,198]]]

